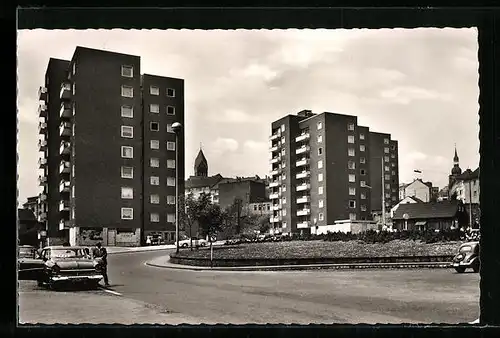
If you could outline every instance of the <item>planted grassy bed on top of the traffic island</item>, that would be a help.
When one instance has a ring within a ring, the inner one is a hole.
[[[336,257],[394,257],[454,255],[462,242],[424,243],[394,240],[388,243],[353,241],[290,241],[213,247],[214,259],[294,259]],[[181,250],[177,257],[210,258],[210,249]]]

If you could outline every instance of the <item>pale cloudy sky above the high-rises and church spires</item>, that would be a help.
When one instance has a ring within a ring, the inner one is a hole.
[[[400,181],[442,187],[457,144],[479,164],[476,29],[26,30],[18,33],[19,201],[39,192],[37,90],[76,46],[141,56],[185,79],[186,175],[200,143],[210,174],[264,176],[270,124],[303,109],[357,115],[399,141]]]

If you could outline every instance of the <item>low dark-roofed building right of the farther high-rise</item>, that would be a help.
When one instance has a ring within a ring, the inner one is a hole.
[[[398,230],[445,230],[466,225],[467,212],[460,201],[401,204],[392,218]]]

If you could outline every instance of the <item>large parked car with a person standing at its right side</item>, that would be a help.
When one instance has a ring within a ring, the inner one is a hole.
[[[48,246],[40,258],[43,269],[38,275],[39,286],[55,287],[63,283],[78,283],[97,288],[103,278],[100,259],[82,246]]]

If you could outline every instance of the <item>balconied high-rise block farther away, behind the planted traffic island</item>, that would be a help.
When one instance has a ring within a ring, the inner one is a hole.
[[[339,220],[370,220],[372,211],[382,209],[382,184],[386,212],[397,203],[397,141],[357,122],[356,116],[303,110],[272,123],[275,230],[304,232]]]

